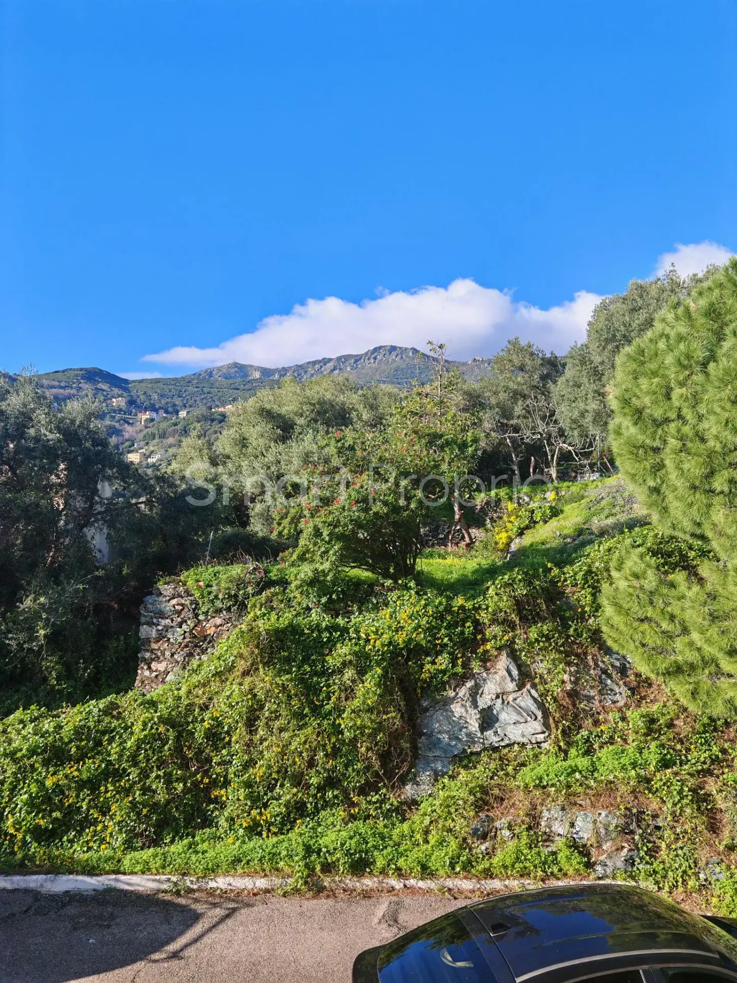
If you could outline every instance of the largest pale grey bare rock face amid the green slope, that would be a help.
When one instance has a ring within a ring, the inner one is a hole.
[[[436,778],[470,752],[544,744],[550,736],[535,685],[523,685],[507,653],[450,693],[423,701],[417,733],[418,760],[405,787],[411,799],[425,795]]]

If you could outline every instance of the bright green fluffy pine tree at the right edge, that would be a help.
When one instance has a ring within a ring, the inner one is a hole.
[[[621,353],[612,406],[628,483],[660,528],[712,558],[668,571],[623,549],[604,634],[687,706],[737,717],[737,258]]]

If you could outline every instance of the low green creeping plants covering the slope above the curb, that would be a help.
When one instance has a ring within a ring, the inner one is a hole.
[[[633,709],[593,712],[574,731],[559,704],[549,749],[474,756],[419,807],[391,794],[392,775],[411,758],[398,706],[457,674],[460,664],[444,653],[478,660],[484,645],[508,645],[498,636],[509,630],[552,697],[556,644],[568,665],[571,646],[597,630],[602,554],[638,533],[643,542],[653,536],[649,527],[595,536],[602,513],[616,518],[617,480],[561,492],[559,515],[526,533],[511,560],[430,553],[424,562],[455,572],[400,587],[353,616],[282,607],[290,587],[275,564],[241,628],[176,684],[3,722],[4,868],[246,870],[293,874],[305,885],[327,873],[589,876],[587,847],[564,839],[551,848],[541,837],[539,813],[552,803],[626,814],[640,854],[633,876],[732,910],[732,875],[703,880],[709,857],[731,870],[731,725],[685,712],[637,676]],[[563,531],[571,542],[560,545]],[[666,546],[678,552],[672,543],[658,549]],[[550,566],[541,557],[553,553],[542,549],[568,550],[567,564]],[[195,568],[185,579],[211,604],[242,571]],[[467,584],[473,589],[462,591]],[[579,610],[556,612],[561,584]],[[404,679],[396,665],[387,672],[398,647]],[[491,854],[469,833],[482,812],[509,819],[514,831]]]

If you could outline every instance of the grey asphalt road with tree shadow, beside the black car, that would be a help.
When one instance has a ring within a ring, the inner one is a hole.
[[[361,950],[464,903],[0,892],[0,983],[348,983]]]

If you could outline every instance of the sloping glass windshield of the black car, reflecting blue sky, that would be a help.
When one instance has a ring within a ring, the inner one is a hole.
[[[482,949],[493,943],[477,938],[455,915],[446,916],[397,939],[378,960],[381,983],[496,983]]]

